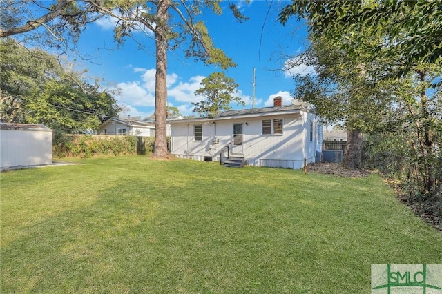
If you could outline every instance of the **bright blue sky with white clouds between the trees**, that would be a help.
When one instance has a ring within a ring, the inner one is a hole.
[[[284,99],[284,104],[290,104],[294,81],[290,72],[283,68],[290,56],[308,46],[306,27],[295,17],[286,26],[276,20],[278,12],[289,1],[234,2],[249,17],[248,21],[235,21],[227,9],[227,1],[223,3],[222,15],[205,12],[200,16],[215,46],[238,65],[226,70],[225,75],[239,84],[238,95],[246,102],[245,108],[252,105],[253,68],[256,69],[255,107],[271,106],[278,95]],[[81,61],[81,66],[88,69],[88,76],[99,77],[119,88],[120,94],[115,98],[124,106],[121,116],[148,117],[155,107],[155,42],[152,35],[137,32],[135,39],[143,43],[144,50],[131,39],[115,48],[112,29],[110,18],[100,19],[86,28],[77,46],[92,62]],[[194,93],[201,87],[200,81],[220,68],[186,59],[180,48],[169,52],[168,61],[168,104],[177,107],[182,115],[192,115],[191,102],[204,99]],[[291,70],[292,74],[295,72],[308,73],[311,68],[298,66]]]

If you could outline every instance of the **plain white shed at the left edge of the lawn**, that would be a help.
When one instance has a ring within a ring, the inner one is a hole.
[[[0,124],[0,166],[52,164],[52,130],[36,124]]]

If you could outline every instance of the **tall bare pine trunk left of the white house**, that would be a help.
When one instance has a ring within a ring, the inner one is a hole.
[[[155,141],[153,156],[167,157],[166,106],[167,106],[167,32],[169,26],[168,8],[170,0],[160,1],[157,9],[157,27],[155,29],[155,45],[157,71],[155,73]]]

